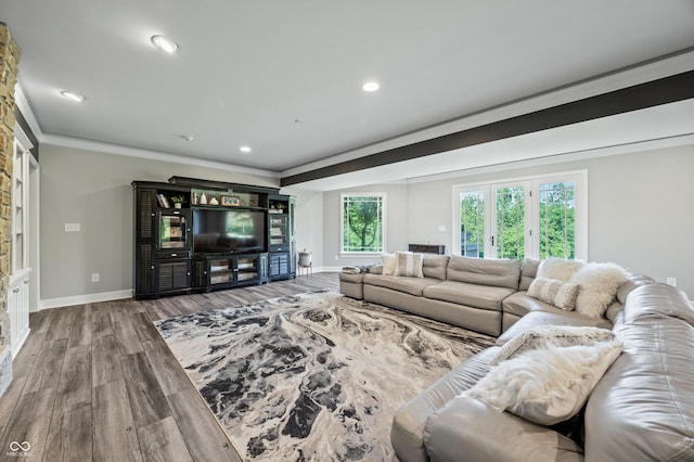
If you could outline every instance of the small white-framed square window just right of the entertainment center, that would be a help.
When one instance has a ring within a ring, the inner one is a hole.
[[[342,194],[342,249],[344,254],[385,252],[384,193]]]

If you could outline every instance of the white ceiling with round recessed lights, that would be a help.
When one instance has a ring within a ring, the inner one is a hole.
[[[460,129],[450,121],[694,47],[693,0],[0,0],[0,21],[22,49],[20,84],[42,136],[284,175],[401,145],[423,128]],[[155,49],[156,34],[179,51]],[[381,90],[363,92],[369,79]],[[638,123],[660,124],[655,136],[694,132],[691,101],[660,110],[667,116],[647,111]],[[663,123],[676,113],[692,116],[678,130]],[[637,120],[620,117],[612,124],[633,134]],[[587,137],[606,126],[588,127],[499,144],[519,159],[604,143]],[[604,145],[632,141],[611,134]],[[468,164],[490,158],[476,152]],[[389,176],[468,165],[437,157]]]

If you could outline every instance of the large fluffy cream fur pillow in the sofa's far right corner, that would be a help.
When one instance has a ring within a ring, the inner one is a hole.
[[[581,286],[576,298],[576,311],[590,318],[605,315],[615,300],[619,286],[627,282],[629,273],[615,264],[587,264],[570,282]]]

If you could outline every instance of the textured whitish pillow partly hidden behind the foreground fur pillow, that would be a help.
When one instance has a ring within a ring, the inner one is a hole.
[[[489,361],[489,365],[497,365],[501,361],[531,349],[591,346],[597,342],[614,339],[615,333],[607,329],[578,325],[539,325],[528,329],[503,344],[497,355]]]

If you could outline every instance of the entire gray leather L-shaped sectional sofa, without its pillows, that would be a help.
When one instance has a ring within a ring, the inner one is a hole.
[[[587,318],[527,295],[538,261],[470,260],[426,256],[424,278],[408,280],[378,268],[340,275],[348,296],[499,335],[403,403],[390,434],[397,460],[694,461],[694,307],[683,292],[632,277],[604,317]],[[577,416],[541,425],[465,396],[506,343],[542,325],[608,329],[624,345]]]

